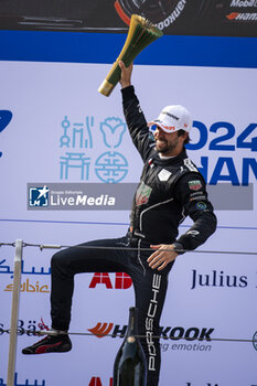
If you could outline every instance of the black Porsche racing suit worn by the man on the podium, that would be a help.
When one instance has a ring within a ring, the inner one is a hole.
[[[121,92],[127,125],[144,162],[133,199],[130,229],[125,237],[85,243],[53,256],[52,328],[68,329],[75,274],[127,272],[133,281],[136,307],[139,309],[139,335],[146,336],[141,339],[141,344],[148,363],[147,385],[158,386],[160,345],[156,336],[159,335],[168,274],[173,264],[161,271],[149,268],[147,259],[151,251],[148,249],[150,245],[176,242],[181,248],[192,250],[215,230],[216,217],[207,200],[203,176],[189,160],[185,150],[172,159],[160,159],[133,87]],[[188,215],[194,224],[176,239],[179,224]],[[90,246],[100,248],[87,248]]]

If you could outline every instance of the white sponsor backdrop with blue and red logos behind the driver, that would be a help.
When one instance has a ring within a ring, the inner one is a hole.
[[[108,98],[97,93],[108,69],[101,64],[0,63],[0,243],[21,238],[68,246],[126,234],[127,210],[73,210],[72,204],[43,210],[50,183],[57,184],[61,200],[65,183],[75,189],[139,181],[142,162],[127,131],[120,87]],[[254,386],[257,269],[256,256],[244,253],[257,249],[257,71],[137,65],[132,79],[148,120],[171,104],[192,112],[189,156],[210,184],[218,218],[210,240],[199,253],[179,257],[170,274],[160,386]],[[186,219],[180,232],[190,224]],[[23,250],[15,385],[110,386],[133,304],[131,280],[122,274],[76,277],[71,332],[93,335],[72,335],[69,353],[21,354],[36,341],[25,330],[38,330],[42,321],[51,324],[53,253]],[[13,256],[13,247],[0,248],[1,385],[7,383]],[[94,335],[99,328],[113,337]]]

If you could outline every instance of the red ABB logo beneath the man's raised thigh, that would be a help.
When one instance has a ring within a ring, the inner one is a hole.
[[[128,274],[116,272],[114,283],[108,272],[96,272],[90,281],[89,288],[96,288],[97,285],[105,285],[108,289],[128,289],[132,286],[132,280]]]

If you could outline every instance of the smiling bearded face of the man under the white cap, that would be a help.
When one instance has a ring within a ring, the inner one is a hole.
[[[157,151],[167,157],[178,156],[183,149],[185,136],[179,137],[178,131],[168,133],[157,126],[154,131]]]

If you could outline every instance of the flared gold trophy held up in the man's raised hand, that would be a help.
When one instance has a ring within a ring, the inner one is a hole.
[[[119,61],[122,61],[126,67],[128,67],[146,46],[162,35],[163,33],[149,20],[138,14],[132,14],[124,47],[113,64],[109,74],[98,88],[98,92],[105,96],[109,96],[120,79]]]

